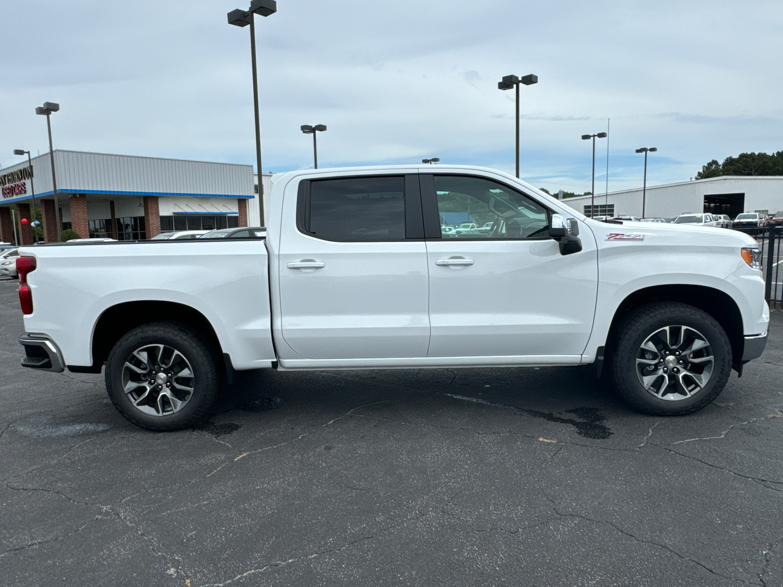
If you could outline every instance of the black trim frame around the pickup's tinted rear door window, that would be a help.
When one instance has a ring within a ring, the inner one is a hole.
[[[402,196],[405,211],[405,238],[403,239],[365,239],[345,240],[329,239],[310,232],[310,189],[312,182],[330,179],[368,179],[368,178],[402,178],[404,193]],[[302,179],[297,188],[296,227],[301,234],[314,239],[326,240],[330,243],[407,243],[424,241],[424,215],[422,212],[422,196],[420,175],[416,173],[380,173],[373,175],[340,175],[337,177]],[[421,235],[421,236],[409,236]]]

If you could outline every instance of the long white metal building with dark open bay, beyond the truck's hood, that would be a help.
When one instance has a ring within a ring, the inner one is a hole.
[[[687,212],[728,214],[735,218],[742,212],[774,214],[783,210],[783,177],[780,175],[721,175],[691,182],[648,185],[641,188],[596,194],[595,211],[590,196],[568,198],[564,203],[587,216],[644,216],[675,218]]]

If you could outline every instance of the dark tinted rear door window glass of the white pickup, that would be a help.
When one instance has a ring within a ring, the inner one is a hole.
[[[305,232],[337,241],[405,238],[405,178],[366,177],[310,182]]]

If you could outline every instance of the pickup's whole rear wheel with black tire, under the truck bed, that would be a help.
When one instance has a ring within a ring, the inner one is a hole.
[[[204,420],[221,373],[197,330],[150,322],[126,333],[106,360],[106,391],[125,419],[148,430],[181,430]]]

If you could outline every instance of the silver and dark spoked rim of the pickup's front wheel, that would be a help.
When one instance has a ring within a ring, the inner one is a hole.
[[[690,326],[664,326],[647,337],[637,352],[642,387],[673,402],[702,391],[714,368],[709,340]]]

